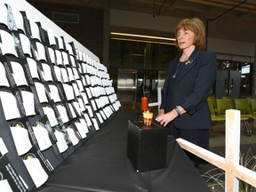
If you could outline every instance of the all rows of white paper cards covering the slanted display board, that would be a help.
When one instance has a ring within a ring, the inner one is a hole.
[[[26,180],[6,156],[14,152],[4,141],[13,140],[38,188],[54,171],[43,152],[54,145],[61,154],[76,146],[121,104],[103,64],[29,20],[26,12],[3,3],[0,12],[0,100],[12,135],[0,135],[0,188],[27,191]],[[40,118],[30,124],[34,116]]]

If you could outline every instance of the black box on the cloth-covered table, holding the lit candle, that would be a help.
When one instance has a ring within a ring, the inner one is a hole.
[[[137,172],[163,169],[166,164],[167,128],[143,120],[129,121],[127,156]]]

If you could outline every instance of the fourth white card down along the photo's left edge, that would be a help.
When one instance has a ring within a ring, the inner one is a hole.
[[[12,92],[0,92],[0,98],[4,109],[6,120],[20,118],[20,111],[17,105],[17,100]]]

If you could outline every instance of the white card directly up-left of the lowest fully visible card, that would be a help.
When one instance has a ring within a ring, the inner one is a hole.
[[[19,124],[15,127],[10,127],[10,129],[18,155],[24,155],[30,148],[32,148],[32,144],[28,137],[28,130]]]

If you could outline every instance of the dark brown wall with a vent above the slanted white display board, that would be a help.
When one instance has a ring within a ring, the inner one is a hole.
[[[79,5],[52,4],[38,1],[30,2],[40,12],[52,20],[52,12],[77,14],[78,23],[54,21],[60,28],[63,28],[69,35],[74,36],[78,42],[88,47],[102,62],[103,52],[103,17],[102,8],[84,7]]]

